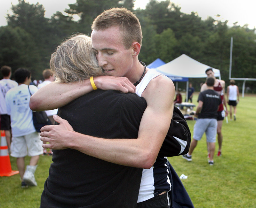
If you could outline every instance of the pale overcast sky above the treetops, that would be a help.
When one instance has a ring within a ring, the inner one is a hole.
[[[149,0],[136,0],[135,7],[145,8]],[[68,4],[74,4],[76,0],[27,0],[30,4],[43,4],[45,17],[50,18],[57,11],[63,12]],[[211,16],[221,21],[228,20],[228,25],[233,26],[234,22],[244,26],[248,24],[250,29],[256,27],[256,1],[254,0],[173,0],[174,4],[181,7],[181,12],[190,14],[197,12],[199,17],[206,19]],[[7,25],[6,14],[12,4],[18,4],[18,0],[1,0],[0,4],[0,26]],[[220,17],[217,18],[216,15]]]

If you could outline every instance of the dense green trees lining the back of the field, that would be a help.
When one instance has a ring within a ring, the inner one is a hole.
[[[52,51],[74,33],[91,34],[93,19],[106,9],[126,7],[140,19],[143,40],[139,59],[146,65],[156,58],[165,63],[183,53],[214,68],[228,85],[230,38],[233,37],[232,77],[256,78],[256,34],[247,25],[227,26],[209,17],[202,20],[197,13],[185,14],[170,0],[150,0],[145,9],[134,10],[134,0],[76,0],[68,4],[65,13],[44,17],[44,6],[19,0],[7,14],[7,26],[0,27],[0,65],[13,71],[26,67],[32,79],[42,79],[49,68]],[[78,16],[79,20],[74,17]],[[196,90],[204,79],[190,79]],[[242,81],[236,81],[242,88]],[[256,82],[246,81],[255,92]]]

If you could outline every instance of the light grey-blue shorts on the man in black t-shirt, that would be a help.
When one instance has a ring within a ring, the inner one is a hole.
[[[201,140],[206,134],[207,142],[215,142],[217,134],[217,119],[197,119],[194,125],[193,139]]]

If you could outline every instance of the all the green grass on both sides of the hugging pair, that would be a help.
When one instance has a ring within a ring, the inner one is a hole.
[[[193,98],[196,104],[198,94]],[[256,207],[256,96],[245,95],[237,106],[236,121],[223,122],[222,157],[214,156],[214,166],[207,163],[205,136],[193,152],[193,160],[181,156],[169,158],[197,207]],[[193,135],[194,120],[188,120]],[[216,151],[218,145],[216,143]],[[10,157],[12,170],[17,170],[16,159]],[[26,165],[29,158],[26,158]],[[44,181],[48,176],[50,156],[40,156],[36,169],[37,187],[20,188],[19,174],[0,177],[0,207],[35,208],[40,205]]]

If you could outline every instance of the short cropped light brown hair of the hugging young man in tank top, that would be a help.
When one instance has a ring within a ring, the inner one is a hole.
[[[92,22],[92,30],[104,30],[109,27],[120,27],[124,46],[129,49],[133,42],[141,45],[142,32],[139,19],[126,8],[112,8],[105,10]]]

